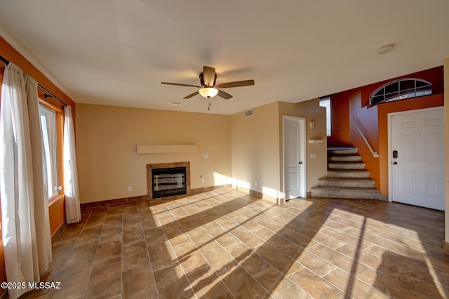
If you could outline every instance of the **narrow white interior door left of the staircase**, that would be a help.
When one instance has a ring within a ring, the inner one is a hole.
[[[305,119],[283,117],[284,190],[286,200],[305,194]]]

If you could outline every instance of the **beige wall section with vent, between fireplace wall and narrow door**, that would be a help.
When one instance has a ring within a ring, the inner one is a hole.
[[[232,115],[232,177],[247,190],[278,198],[279,103],[254,108],[252,117]]]

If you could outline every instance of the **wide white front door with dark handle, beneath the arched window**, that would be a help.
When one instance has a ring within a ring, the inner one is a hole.
[[[444,211],[443,107],[389,114],[392,201]]]

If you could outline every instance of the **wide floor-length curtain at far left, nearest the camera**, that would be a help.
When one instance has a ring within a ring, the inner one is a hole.
[[[25,79],[22,69],[10,62],[4,72],[0,107],[2,237],[6,277],[11,282],[25,282],[26,286],[40,281],[39,271],[47,270],[51,261],[37,101],[36,82]],[[9,289],[9,298],[18,298],[27,291]]]

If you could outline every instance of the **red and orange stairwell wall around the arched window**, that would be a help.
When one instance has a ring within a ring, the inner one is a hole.
[[[385,102],[383,104],[368,106],[371,93],[389,81],[401,78],[417,78],[429,81],[432,84],[433,95],[408,100]],[[422,72],[404,75],[375,84],[354,88],[330,95],[332,111],[332,136],[328,137],[328,146],[351,145],[358,147],[358,153],[370,171],[370,178],[375,180],[375,188],[384,195],[388,194],[388,131],[387,114],[413,109],[423,109],[444,105],[443,67],[434,67]],[[334,111],[335,110],[335,111]],[[370,145],[380,157],[374,158],[366,146],[365,141],[358,133],[353,119],[358,119],[363,131],[366,133]]]

